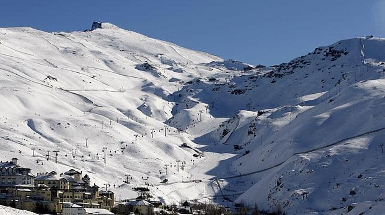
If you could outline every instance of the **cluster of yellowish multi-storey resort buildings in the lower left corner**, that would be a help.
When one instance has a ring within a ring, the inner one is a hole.
[[[106,211],[115,204],[114,192],[99,191],[97,185],[90,185],[88,175],[82,177],[82,172],[74,169],[60,175],[55,171],[38,173],[35,177],[30,168],[20,167],[18,159],[13,158],[0,162],[0,178],[0,204],[23,210],[71,214],[74,208],[83,208],[76,214],[87,214],[84,208],[90,208],[111,214]]]

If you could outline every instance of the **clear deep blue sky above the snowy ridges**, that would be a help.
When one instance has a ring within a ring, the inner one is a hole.
[[[111,22],[226,59],[273,65],[344,38],[385,33],[385,0],[7,0],[0,27],[44,31]]]

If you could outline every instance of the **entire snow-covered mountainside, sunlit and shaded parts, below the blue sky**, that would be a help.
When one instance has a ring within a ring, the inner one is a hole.
[[[264,67],[110,23],[0,28],[2,159],[35,174],[82,170],[117,200],[141,185],[167,204],[375,214],[385,205],[383,50],[382,38],[353,38]]]

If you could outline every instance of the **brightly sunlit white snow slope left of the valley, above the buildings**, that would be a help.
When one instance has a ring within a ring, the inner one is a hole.
[[[110,188],[121,185],[126,174],[132,186],[160,185],[165,178],[191,180],[188,170],[200,162],[193,161],[199,146],[170,126],[164,137],[163,122],[176,107],[167,96],[194,78],[222,74],[203,65],[221,60],[110,23],[69,33],[1,28],[2,160],[18,157],[34,173],[76,168],[100,187],[105,182]],[[181,147],[183,143],[192,149]],[[108,148],[106,164],[103,147]],[[60,151],[57,164],[53,150]],[[183,162],[183,171],[177,172],[177,160]],[[167,176],[166,164],[170,165]],[[130,186],[114,190],[117,200],[127,192],[134,193],[127,198],[138,195]],[[184,197],[179,188],[164,187],[151,192],[165,203],[182,201],[190,194]],[[197,195],[214,195],[202,189],[206,184],[191,188]],[[175,194],[169,193],[174,190]]]

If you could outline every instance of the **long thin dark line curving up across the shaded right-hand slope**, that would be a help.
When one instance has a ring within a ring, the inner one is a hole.
[[[344,142],[344,141],[346,141],[346,140],[351,140],[351,139],[354,139],[354,138],[357,138],[357,137],[362,137],[362,136],[365,136],[365,135],[368,135],[368,134],[371,134],[371,133],[380,132],[380,131],[382,131],[382,130],[385,130],[385,127],[379,128],[379,129],[376,129],[376,130],[372,130],[372,131],[369,131],[369,132],[361,133],[361,134],[355,135],[355,136],[353,136],[353,137],[348,137],[348,138],[339,140],[339,141],[337,141],[337,142],[334,142],[334,143],[325,145],[325,146],[323,146],[323,147],[318,147],[318,148],[310,149],[310,150],[307,150],[307,151],[305,151],[305,152],[297,152],[297,153],[293,153],[293,155],[291,155],[289,158],[287,158],[287,159],[284,160],[283,162],[278,163],[278,164],[276,164],[276,165],[274,165],[274,166],[271,166],[271,167],[268,167],[268,168],[264,168],[264,169],[262,169],[262,170],[258,170],[258,171],[254,171],[254,172],[249,172],[249,173],[244,173],[244,174],[241,174],[241,175],[229,176],[229,177],[213,178],[212,180],[217,180],[217,179],[229,179],[229,178],[239,178],[239,177],[244,177],[244,176],[247,176],[247,175],[252,175],[252,174],[255,174],[255,173],[264,172],[264,171],[266,171],[266,170],[270,170],[270,169],[272,169],[272,168],[275,168],[275,167],[278,167],[278,166],[282,165],[283,163],[285,163],[286,161],[288,161],[291,157],[293,157],[293,156],[295,156],[295,155],[306,154],[306,153],[314,152],[314,151],[317,151],[317,150],[320,150],[320,149],[323,149],[323,148],[328,148],[328,147],[331,147],[331,146],[333,146],[333,145],[337,145],[338,143]]]

